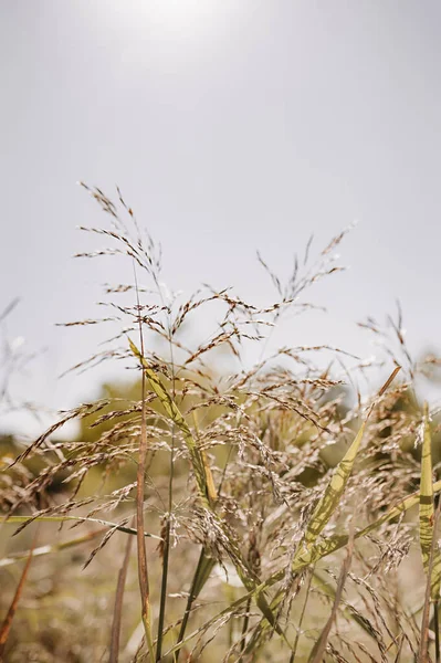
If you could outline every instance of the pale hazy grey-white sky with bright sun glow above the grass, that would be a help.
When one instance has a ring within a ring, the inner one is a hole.
[[[350,271],[312,297],[329,314],[281,340],[368,356],[355,323],[399,297],[410,347],[439,347],[440,35],[435,0],[3,0],[0,308],[22,297],[9,337],[49,348],[15,392],[63,408],[114,375],[55,380],[98,333],[54,324],[119,277],[71,260],[75,227],[106,222],[80,179],[120,186],[172,287],[260,302],[256,249],[287,274],[312,232],[318,249],[358,220]]]

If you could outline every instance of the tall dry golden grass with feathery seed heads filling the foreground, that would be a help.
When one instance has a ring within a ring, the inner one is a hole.
[[[160,246],[120,192],[114,203],[85,188],[111,227],[84,230],[109,246],[81,256],[119,255],[132,282],[106,284],[102,318],[67,323],[114,327],[74,368],[113,359],[140,379],[135,398],[64,412],[4,473],[3,532],[18,524],[24,540],[38,522],[48,540],[32,549],[8,660],[439,660],[438,438],[401,313],[387,333],[364,323],[389,378],[370,397],[355,389],[354,404],[346,385],[367,362],[326,344],[270,351],[285,314],[312,308],[314,284],[340,271],[345,233],[315,260],[309,242],[285,284],[259,256],[275,286],[267,306],[208,286],[185,298],[164,286]],[[190,341],[185,326],[210,311],[211,334]],[[261,347],[253,366],[249,345]],[[220,350],[235,368],[216,370]],[[84,435],[54,442],[72,419]],[[0,566],[27,559],[11,549]]]

